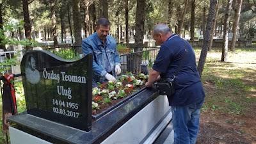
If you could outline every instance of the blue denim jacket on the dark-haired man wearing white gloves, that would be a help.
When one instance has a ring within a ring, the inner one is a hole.
[[[115,38],[108,35],[106,39],[106,51],[96,32],[88,36],[88,38],[85,38],[82,43],[84,56],[88,53],[93,53],[93,83],[103,83],[107,81],[107,79],[105,79],[105,75],[107,74],[106,60],[109,60],[111,72],[114,77],[116,77],[115,65],[121,67],[120,57],[116,51]]]

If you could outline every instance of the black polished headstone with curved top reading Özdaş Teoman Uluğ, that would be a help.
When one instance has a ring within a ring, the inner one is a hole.
[[[51,52],[30,51],[20,69],[28,114],[90,131],[92,54],[67,61]]]

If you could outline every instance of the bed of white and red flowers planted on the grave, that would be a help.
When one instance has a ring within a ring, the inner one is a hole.
[[[116,103],[129,97],[145,86],[148,75],[138,74],[134,76],[129,73],[122,75],[117,83],[108,81],[108,83],[98,83],[99,86],[92,90],[92,114],[98,115]]]

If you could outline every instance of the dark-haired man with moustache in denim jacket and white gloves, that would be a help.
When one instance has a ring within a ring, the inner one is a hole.
[[[95,27],[96,32],[83,40],[84,56],[93,53],[93,84],[106,81],[116,83],[116,75],[121,73],[120,57],[116,51],[116,40],[108,35],[110,22],[100,18]]]

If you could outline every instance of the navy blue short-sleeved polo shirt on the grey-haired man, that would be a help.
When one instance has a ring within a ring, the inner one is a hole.
[[[188,53],[184,57],[186,48]],[[195,52],[179,36],[173,34],[161,45],[153,69],[160,72],[161,77],[173,77],[183,57],[182,67],[174,80],[175,94],[168,97],[170,106],[186,106],[205,97],[196,68]]]

